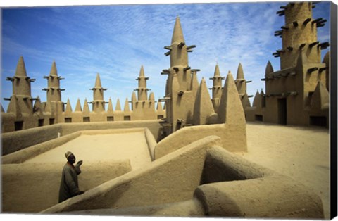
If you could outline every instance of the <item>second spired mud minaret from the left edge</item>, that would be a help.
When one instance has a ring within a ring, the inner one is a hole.
[[[58,76],[55,61],[53,61],[51,65],[49,76],[44,76],[44,78],[48,80],[48,87],[43,89],[44,91],[47,91],[47,102],[61,102],[61,91],[64,91],[65,89],[60,89],[60,80],[63,78]]]

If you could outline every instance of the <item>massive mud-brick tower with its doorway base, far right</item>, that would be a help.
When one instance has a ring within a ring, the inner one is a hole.
[[[280,8],[277,15],[284,15],[285,23],[275,36],[282,38],[282,49],[273,55],[280,58],[281,70],[274,72],[268,62],[262,79],[265,94],[256,94],[261,96],[260,105],[249,108],[246,115],[251,120],[282,125],[328,126],[329,88],[325,85],[329,85],[330,62],[320,59],[321,50],[329,43],[317,39],[317,28],[323,27],[326,20],[312,18],[312,2],[289,3]]]

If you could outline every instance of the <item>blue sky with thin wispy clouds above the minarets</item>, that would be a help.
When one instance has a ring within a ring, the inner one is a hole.
[[[1,13],[1,104],[5,111],[12,94],[11,82],[20,56],[24,57],[27,75],[32,82],[32,96],[46,101],[51,64],[56,61],[61,80],[62,101],[70,99],[73,110],[77,99],[92,101],[96,73],[100,74],[104,99],[116,106],[131,99],[137,88],[135,78],[144,65],[148,88],[160,99],[165,94],[166,75],[170,67],[163,46],[170,45],[175,18],[180,17],[187,45],[196,45],[189,53],[189,66],[201,69],[212,87],[215,65],[221,75],[230,70],[234,77],[242,63],[244,77],[252,80],[247,92],[254,95],[264,89],[265,65],[270,60],[280,70],[279,58],[272,53],[282,42],[274,36],[284,25],[278,16],[287,2],[236,2],[220,4],[139,4],[111,6],[55,6],[2,8]],[[325,18],[318,28],[318,40],[330,42],[330,3],[321,2],[313,18]],[[329,48],[330,49],[330,48]],[[322,51],[322,56],[327,52]],[[251,99],[252,101],[252,99]]]

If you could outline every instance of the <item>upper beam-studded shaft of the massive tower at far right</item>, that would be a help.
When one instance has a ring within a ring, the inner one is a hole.
[[[314,7],[311,1],[303,1],[281,6],[282,10],[277,11],[278,15],[285,15],[282,30],[275,32],[275,36],[282,37],[282,49],[273,53],[280,57],[281,70],[296,66],[299,53],[306,55],[308,63],[320,63],[320,49],[326,48],[328,42],[318,42],[317,27],[323,27],[326,20],[312,18]]]

